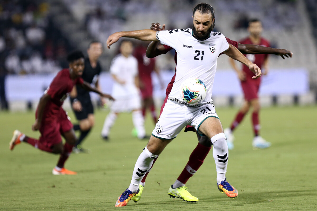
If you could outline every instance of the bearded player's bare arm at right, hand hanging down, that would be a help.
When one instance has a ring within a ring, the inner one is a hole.
[[[252,63],[249,59],[247,59],[243,54],[233,45],[229,44],[229,48],[223,52],[227,56],[243,63],[248,66],[249,69],[255,74],[252,78],[258,78],[261,76],[261,69],[256,66],[256,64]]]

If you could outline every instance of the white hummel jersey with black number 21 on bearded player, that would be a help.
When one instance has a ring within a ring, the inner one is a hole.
[[[192,29],[188,28],[160,31],[156,33],[156,38],[162,44],[171,46],[177,52],[175,82],[168,98],[193,107],[211,104],[217,58],[220,53],[229,48],[223,34],[212,31],[208,39],[201,41],[196,39]],[[180,97],[181,83],[187,78],[199,78],[206,85],[207,95],[198,105],[184,103]]]

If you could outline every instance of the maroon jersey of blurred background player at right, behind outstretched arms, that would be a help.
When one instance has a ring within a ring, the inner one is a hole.
[[[249,37],[246,38],[246,39],[241,40],[239,43],[255,45],[254,43],[251,42]],[[270,47],[269,41],[264,39],[264,38],[261,38],[261,41],[260,41],[260,43],[258,45],[261,45],[261,46],[264,46],[264,47]],[[264,60],[268,57],[268,54],[248,54],[248,55],[244,54],[244,56],[247,57],[251,62],[255,63],[261,69],[262,65],[264,63]],[[247,79],[250,79],[250,78],[252,78],[252,76],[255,75],[245,65],[243,65],[243,72],[245,72],[247,74]],[[260,81],[261,77],[253,79],[253,80]]]

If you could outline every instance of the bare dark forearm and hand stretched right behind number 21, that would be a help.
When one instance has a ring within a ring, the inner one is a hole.
[[[281,56],[283,59],[285,59],[285,57],[293,56],[293,53],[287,49],[269,48],[261,45],[244,45],[238,43],[238,50],[243,54],[275,54],[277,56]]]

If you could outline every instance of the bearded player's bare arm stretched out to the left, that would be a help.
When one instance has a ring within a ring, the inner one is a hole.
[[[151,29],[142,29],[136,31],[123,31],[111,34],[107,39],[107,48],[117,42],[121,37],[134,38],[142,41],[158,41],[156,39],[156,32]]]

